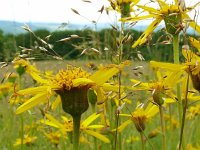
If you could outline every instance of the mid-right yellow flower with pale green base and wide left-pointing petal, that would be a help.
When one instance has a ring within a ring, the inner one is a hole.
[[[159,106],[165,102],[170,103],[173,100],[173,88],[181,81],[182,72],[166,72],[164,75],[157,70],[157,81],[141,82],[131,79],[134,83],[132,90],[136,91],[151,91],[153,102]]]

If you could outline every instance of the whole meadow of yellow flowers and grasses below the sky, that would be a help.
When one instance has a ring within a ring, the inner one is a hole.
[[[23,26],[35,45],[20,46],[0,63],[0,149],[200,149],[200,26],[187,14],[200,2],[189,8],[184,0],[108,2],[99,13],[120,14],[110,45],[103,45],[97,32],[91,42],[69,32],[56,39],[61,47],[71,42],[79,51],[76,59],[65,60],[75,51],[54,51],[52,35],[39,37]],[[149,18],[153,21],[134,39],[133,24]],[[165,34],[152,44],[161,21]],[[188,26],[197,36],[187,34]],[[73,44],[77,39],[83,43]],[[173,60],[150,59],[166,56],[148,57],[152,45],[169,48]]]

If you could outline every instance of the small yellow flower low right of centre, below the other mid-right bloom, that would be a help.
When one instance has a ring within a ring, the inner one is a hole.
[[[143,104],[140,104],[131,114],[120,114],[120,116],[129,117],[129,119],[122,123],[117,130],[118,132],[122,132],[127,125],[134,123],[137,131],[143,132],[145,130],[146,122],[155,116],[158,111],[158,107],[152,103],[149,103],[146,108],[144,108]]]

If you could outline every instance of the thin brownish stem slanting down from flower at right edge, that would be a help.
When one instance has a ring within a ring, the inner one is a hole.
[[[181,133],[180,133],[180,141],[179,141],[179,150],[181,150],[181,146],[183,143],[183,135],[184,135],[184,126],[185,126],[185,118],[186,118],[186,112],[188,107],[188,87],[189,87],[189,74],[187,76],[187,83],[186,83],[186,93],[185,93],[185,101],[183,103],[183,117],[182,117],[182,123],[181,123]]]

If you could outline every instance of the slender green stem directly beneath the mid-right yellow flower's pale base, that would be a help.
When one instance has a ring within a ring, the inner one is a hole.
[[[166,150],[167,145],[166,145],[166,134],[165,134],[165,120],[164,120],[162,106],[159,106],[159,112],[160,112],[160,125],[161,125],[161,129],[162,129],[162,149]]]

